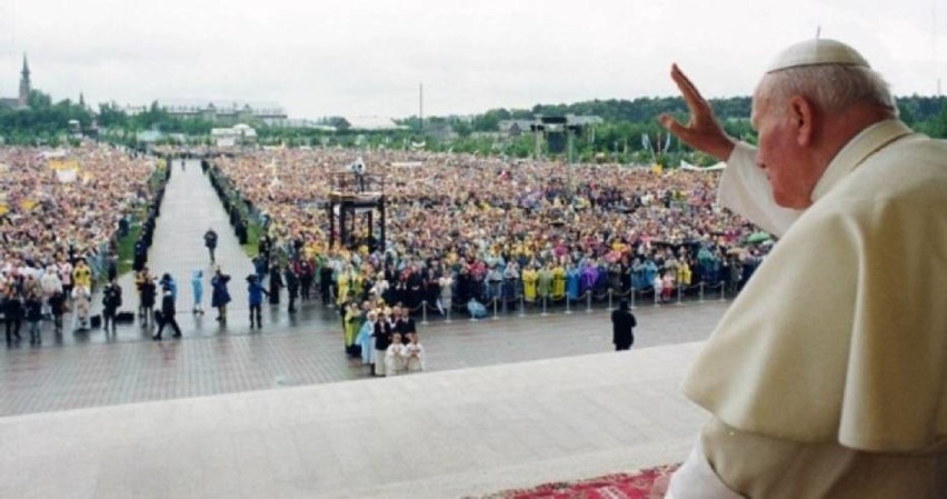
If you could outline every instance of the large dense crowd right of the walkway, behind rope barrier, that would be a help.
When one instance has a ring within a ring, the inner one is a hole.
[[[363,214],[348,240],[329,244],[331,177],[357,156],[385,178],[383,247]],[[708,172],[282,149],[220,158],[211,174],[266,228],[258,269],[337,303],[372,291],[411,312],[609,291],[669,300],[700,282],[732,293],[769,249],[751,238],[758,228],[716,206]]]

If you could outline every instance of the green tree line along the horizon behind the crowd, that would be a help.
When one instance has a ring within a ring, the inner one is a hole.
[[[756,134],[749,123],[749,97],[711,99],[710,103],[731,136],[755,141]],[[947,138],[945,103],[945,97],[898,98],[901,119],[908,126],[939,138]],[[340,117],[327,117],[319,121],[333,126],[335,132],[272,127],[252,119],[248,124],[257,129],[259,139],[265,143],[290,147],[339,144],[398,149],[423,143],[426,148],[435,150],[527,157],[535,151],[535,141],[529,131],[525,130],[518,137],[504,136],[499,133],[502,121],[534,120],[537,116],[596,116],[604,122],[586,127],[575,137],[572,159],[590,161],[606,156],[610,160],[628,162],[667,159],[659,158],[658,154],[692,156],[692,151],[676,141],[670,142],[670,148],[665,147],[668,144],[667,136],[657,122],[657,117],[662,112],[670,112],[684,119],[687,116],[687,107],[680,97],[596,99],[568,104],[536,104],[531,109],[490,109],[468,117],[431,117],[426,118],[423,123],[418,117],[409,117],[399,121],[407,130],[371,132],[351,130],[349,123]],[[93,111],[81,98],[79,102],[64,99],[53,103],[50,96],[32,90],[28,109],[0,108],[0,138],[6,143],[54,146],[72,137],[76,130],[70,129],[70,121],[73,122],[73,128],[74,123],[78,123],[82,131],[88,132],[97,127],[109,140],[129,144],[133,143],[137,133],[143,130],[180,133],[188,137],[191,143],[210,143],[211,128],[235,124],[207,118],[176,116],[158,102],[152,102],[150,107],[134,114],[124,112],[114,103],[101,103],[98,110]],[[642,143],[642,136],[648,136],[649,144]],[[696,160],[709,161],[699,156]]]

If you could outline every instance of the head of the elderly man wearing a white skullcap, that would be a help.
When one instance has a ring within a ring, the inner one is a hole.
[[[757,162],[777,203],[803,209],[836,153],[868,126],[898,114],[887,82],[833,40],[790,47],[760,81],[751,121]]]

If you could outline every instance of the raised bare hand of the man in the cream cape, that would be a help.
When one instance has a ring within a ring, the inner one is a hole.
[[[670,114],[662,113],[658,117],[658,121],[684,143],[714,156],[720,161],[726,161],[734,150],[734,139],[727,136],[717,118],[714,117],[710,104],[700,97],[697,87],[690,82],[690,79],[677,64],[671,64],[671,79],[677,83],[677,88],[680,89],[680,93],[687,102],[690,119],[687,124],[681,124]]]

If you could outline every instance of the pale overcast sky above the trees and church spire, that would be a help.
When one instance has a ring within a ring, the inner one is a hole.
[[[896,94],[947,90],[944,0],[0,0],[0,96],[22,52],[54,100],[272,101],[293,118],[417,114],[420,82],[426,116],[669,96],[674,61],[708,97],[746,96],[819,26]]]

